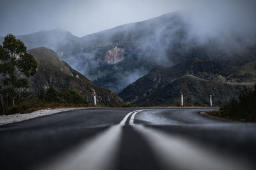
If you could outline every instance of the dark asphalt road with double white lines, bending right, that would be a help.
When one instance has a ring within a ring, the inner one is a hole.
[[[0,126],[0,169],[256,169],[256,124],[207,108],[95,108]]]

